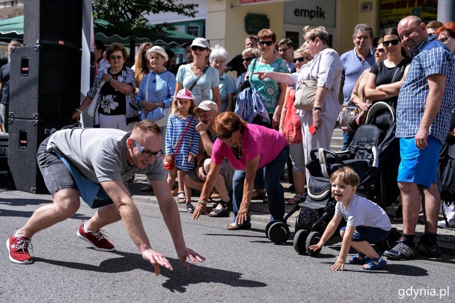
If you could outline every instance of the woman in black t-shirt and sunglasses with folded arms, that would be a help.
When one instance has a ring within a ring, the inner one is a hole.
[[[365,97],[373,103],[384,101],[396,109],[398,94],[412,59],[403,56],[405,53],[401,48],[396,28],[384,30],[382,45],[387,53],[387,59],[371,67],[365,85]]]

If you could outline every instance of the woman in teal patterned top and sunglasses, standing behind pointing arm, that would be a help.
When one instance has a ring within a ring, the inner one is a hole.
[[[274,55],[275,44],[277,42],[277,36],[274,31],[262,29],[257,33],[257,39],[261,57],[251,61],[251,64],[248,66],[248,74],[250,75],[251,87],[253,90],[257,91],[262,102],[264,102],[265,108],[270,116],[271,125],[264,125],[264,122],[260,121],[258,117],[256,117],[252,123],[268,127],[271,126],[271,128],[278,129],[278,126],[280,125],[281,109],[285,100],[286,84],[280,84],[279,82],[270,79],[261,81],[258,79],[257,75],[252,75],[252,73],[258,71],[287,73],[288,66],[286,61]]]

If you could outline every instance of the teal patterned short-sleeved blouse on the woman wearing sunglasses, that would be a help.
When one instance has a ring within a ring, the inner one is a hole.
[[[248,66],[249,75],[253,73],[253,65],[257,60],[259,59],[254,59]],[[279,73],[289,72],[286,61],[281,58],[275,60],[271,64],[259,64],[259,62],[257,62],[256,66],[254,67],[254,72],[257,71],[275,71]],[[264,79],[261,81],[258,79],[257,75],[250,76],[249,79],[251,82],[251,87],[258,92],[259,96],[262,99],[262,102],[264,102],[267,112],[269,114],[273,114],[278,104],[278,98],[280,97],[280,83],[270,79]]]

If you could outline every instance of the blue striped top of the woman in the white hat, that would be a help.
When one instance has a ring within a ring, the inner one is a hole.
[[[148,85],[149,100],[146,100],[146,88]],[[139,86],[139,93],[136,96],[136,104],[139,106],[139,102],[142,100],[146,101],[163,101],[164,108],[168,108],[172,105],[172,98],[175,92],[175,76],[168,70],[161,73],[155,73],[151,71],[146,74],[141,81]]]

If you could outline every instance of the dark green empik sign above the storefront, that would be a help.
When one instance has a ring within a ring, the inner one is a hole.
[[[293,1],[284,5],[284,23],[335,27],[336,0]]]

